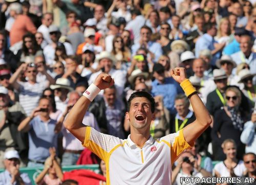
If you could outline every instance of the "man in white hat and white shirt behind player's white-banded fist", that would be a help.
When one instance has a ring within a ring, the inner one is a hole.
[[[110,74],[115,79],[117,97],[119,100],[122,100],[126,79],[125,74],[122,71],[114,69],[114,65],[116,63],[115,57],[111,55],[111,53],[104,51],[99,54],[99,56],[96,58],[96,61],[98,62],[101,70],[91,75],[88,81],[89,85],[94,82],[100,73],[104,72],[106,74]],[[102,94],[103,90],[101,91],[100,95]]]

